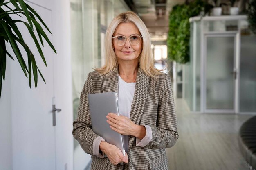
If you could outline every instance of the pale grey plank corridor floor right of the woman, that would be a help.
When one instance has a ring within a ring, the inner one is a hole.
[[[189,113],[175,100],[179,139],[167,149],[169,170],[249,170],[238,131],[254,115]]]

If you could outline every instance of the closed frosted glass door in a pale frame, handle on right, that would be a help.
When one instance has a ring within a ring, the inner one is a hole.
[[[236,34],[205,35],[204,111],[235,112]]]

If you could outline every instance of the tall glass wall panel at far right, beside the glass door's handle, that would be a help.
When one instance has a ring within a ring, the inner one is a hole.
[[[256,36],[241,22],[240,112],[256,112]]]

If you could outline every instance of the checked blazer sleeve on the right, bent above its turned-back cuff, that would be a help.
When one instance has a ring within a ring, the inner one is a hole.
[[[145,148],[171,148],[179,137],[171,78],[167,74],[159,96],[157,126],[150,127],[152,139]]]

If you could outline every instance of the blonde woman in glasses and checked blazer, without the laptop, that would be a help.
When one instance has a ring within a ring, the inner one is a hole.
[[[154,68],[150,35],[134,12],[111,22],[105,56],[106,64],[88,74],[81,92],[75,139],[92,155],[92,170],[167,170],[166,148],[178,139],[171,78]],[[88,94],[102,92],[118,93],[121,115],[109,113],[106,121],[124,135],[126,157],[91,129]]]

